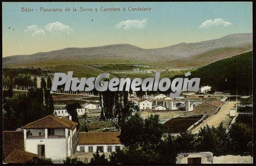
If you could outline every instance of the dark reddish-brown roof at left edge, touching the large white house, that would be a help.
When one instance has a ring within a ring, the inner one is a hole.
[[[13,149],[24,150],[23,131],[4,131],[3,132],[3,155],[7,157]]]

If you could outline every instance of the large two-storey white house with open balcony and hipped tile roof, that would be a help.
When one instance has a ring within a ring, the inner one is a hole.
[[[78,144],[77,125],[52,115],[27,124],[22,127],[25,151],[53,160],[72,157]]]

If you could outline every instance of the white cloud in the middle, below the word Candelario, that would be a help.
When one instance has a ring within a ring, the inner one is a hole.
[[[136,28],[136,29],[143,29],[146,27],[148,23],[147,19],[144,20],[126,20],[126,21],[122,21],[117,23],[116,27],[117,28],[123,28],[124,30],[128,31],[131,28]]]

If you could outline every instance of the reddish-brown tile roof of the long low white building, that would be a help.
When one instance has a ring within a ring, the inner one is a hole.
[[[120,132],[79,133],[79,145],[121,144]]]

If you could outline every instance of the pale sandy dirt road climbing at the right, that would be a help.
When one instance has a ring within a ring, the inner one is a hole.
[[[204,127],[206,124],[217,127],[219,123],[221,123],[221,121],[223,121],[224,127],[227,128],[229,123],[232,120],[232,118],[229,117],[229,109],[233,108],[235,104],[236,104],[236,101],[230,101],[230,102],[224,103],[224,105],[221,107],[221,109],[217,114],[211,115],[206,120],[204,120],[204,122],[199,124],[197,127],[192,128],[191,132],[193,134],[198,133],[200,127]]]

